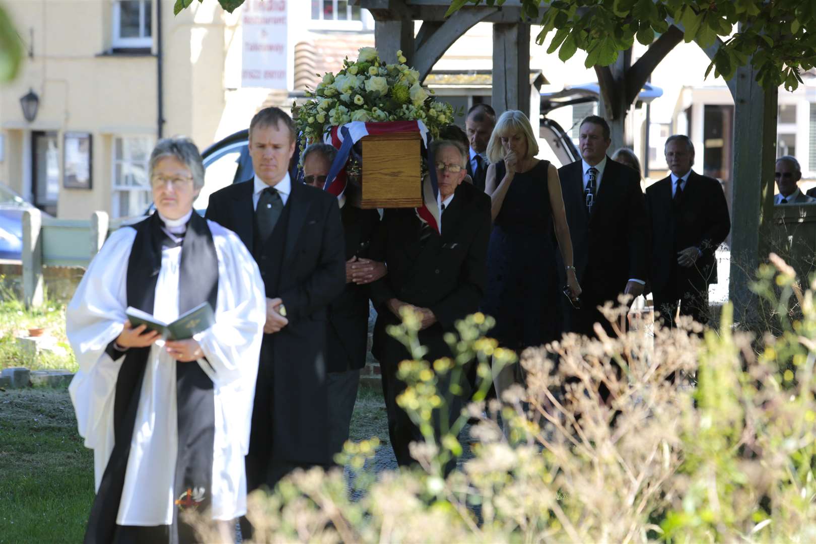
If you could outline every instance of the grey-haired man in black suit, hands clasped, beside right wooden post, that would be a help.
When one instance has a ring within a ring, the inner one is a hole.
[[[728,205],[719,181],[691,170],[688,136],[670,136],[665,153],[671,174],[646,188],[654,310],[673,325],[679,304],[681,316],[706,323],[708,285],[717,281],[714,252],[731,230]]]

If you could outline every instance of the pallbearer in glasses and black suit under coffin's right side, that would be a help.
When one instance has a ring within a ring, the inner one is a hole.
[[[401,323],[401,307],[413,307],[422,316],[419,343],[428,347],[425,360],[432,363],[452,356],[444,335],[455,332],[455,321],[477,312],[487,275],[490,197],[462,183],[468,152],[461,144],[438,140],[432,152],[437,161],[441,236],[414,209],[386,210],[383,253],[388,276],[371,284],[371,299],[378,312],[372,352],[382,367],[388,434],[397,462],[403,466],[413,462],[408,444],[423,436],[397,405],[397,396],[406,387],[397,378],[397,365],[410,359],[410,354],[386,328]],[[447,421],[453,422],[459,417],[463,397],[450,394],[450,373],[438,379],[437,391],[447,403],[442,409]],[[455,385],[466,390],[466,383],[462,376]],[[437,435],[447,430],[441,428],[442,418],[434,418]]]

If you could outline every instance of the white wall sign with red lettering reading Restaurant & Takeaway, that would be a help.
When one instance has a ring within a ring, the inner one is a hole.
[[[246,0],[241,86],[286,89],[286,0]]]

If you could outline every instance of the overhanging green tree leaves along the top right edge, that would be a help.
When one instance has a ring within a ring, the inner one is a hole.
[[[466,5],[503,0],[454,0],[447,15]],[[734,77],[749,62],[766,89],[792,91],[800,72],[816,66],[816,2],[809,0],[521,0],[522,13],[542,26],[542,45],[556,31],[548,52],[561,60],[587,52],[586,66],[614,63],[635,39],[644,45],[665,33],[670,23],[684,29],[685,42],[706,48],[721,45],[706,75]],[[546,8],[546,9],[545,9]],[[543,15],[539,15],[539,10]]]

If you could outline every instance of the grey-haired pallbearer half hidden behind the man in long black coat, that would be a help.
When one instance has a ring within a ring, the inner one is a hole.
[[[312,144],[304,151],[304,181],[323,190],[337,149]],[[337,201],[343,221],[346,287],[329,305],[326,330],[326,368],[329,371],[329,433],[331,452],[343,449],[348,440],[360,369],[366,365],[368,345],[368,299],[370,282],[385,276],[384,263],[366,257],[379,232],[377,210],[350,206],[345,195]]]

